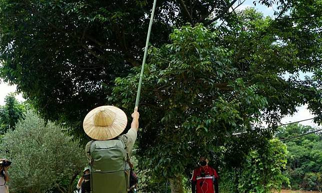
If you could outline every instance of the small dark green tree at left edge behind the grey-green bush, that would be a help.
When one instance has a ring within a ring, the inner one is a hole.
[[[6,95],[5,104],[0,106],[0,134],[9,129],[14,130],[16,123],[23,118],[24,105],[19,103],[14,95],[13,93]]]

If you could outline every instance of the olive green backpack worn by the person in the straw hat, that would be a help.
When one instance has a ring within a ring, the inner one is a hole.
[[[90,187],[92,193],[126,193],[130,167],[121,140],[94,140],[90,144]]]

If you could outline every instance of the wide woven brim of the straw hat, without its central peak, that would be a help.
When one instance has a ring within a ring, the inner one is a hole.
[[[98,126],[94,124],[94,115],[102,108],[115,113],[113,122],[108,126]],[[116,106],[99,106],[87,113],[83,121],[83,129],[85,133],[95,140],[108,140],[118,136],[123,132],[127,124],[127,117],[123,110]]]

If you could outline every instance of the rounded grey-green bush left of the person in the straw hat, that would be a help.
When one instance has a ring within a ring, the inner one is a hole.
[[[12,161],[9,187],[16,193],[71,192],[86,162],[76,141],[30,110],[4,134],[0,149],[1,157]]]

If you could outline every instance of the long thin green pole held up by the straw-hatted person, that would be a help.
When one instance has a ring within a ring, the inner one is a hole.
[[[138,81],[136,100],[135,100],[135,109],[136,110],[138,108],[138,101],[139,101],[140,93],[141,93],[141,84],[142,84],[142,77],[143,77],[143,71],[144,71],[144,64],[145,64],[145,60],[146,60],[146,52],[147,52],[148,40],[150,38],[150,33],[151,33],[151,27],[152,27],[155,4],[156,4],[156,0],[153,1],[153,7],[152,7],[152,12],[151,12],[150,23],[148,25],[148,30],[147,30],[147,37],[146,37],[146,43],[145,43],[145,49],[144,49],[144,56],[143,56],[140,79]]]

